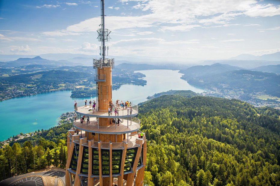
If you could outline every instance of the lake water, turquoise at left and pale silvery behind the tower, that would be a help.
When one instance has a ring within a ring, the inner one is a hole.
[[[112,92],[113,100],[131,101],[134,104],[146,101],[148,96],[167,90],[192,90],[200,93],[204,90],[191,86],[180,79],[182,76],[173,70],[142,70],[147,85],[122,85]],[[21,132],[28,133],[38,129],[48,129],[57,125],[58,117],[67,111],[73,111],[77,102],[90,98],[70,98],[70,91],[38,94],[35,96],[14,98],[0,102],[1,133],[0,140]],[[92,100],[94,98],[91,98]]]

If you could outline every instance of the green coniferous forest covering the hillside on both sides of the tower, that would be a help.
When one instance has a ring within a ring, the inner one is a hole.
[[[139,106],[147,137],[144,185],[280,185],[280,112],[236,99],[163,95]],[[0,149],[0,179],[65,167],[62,124]]]

